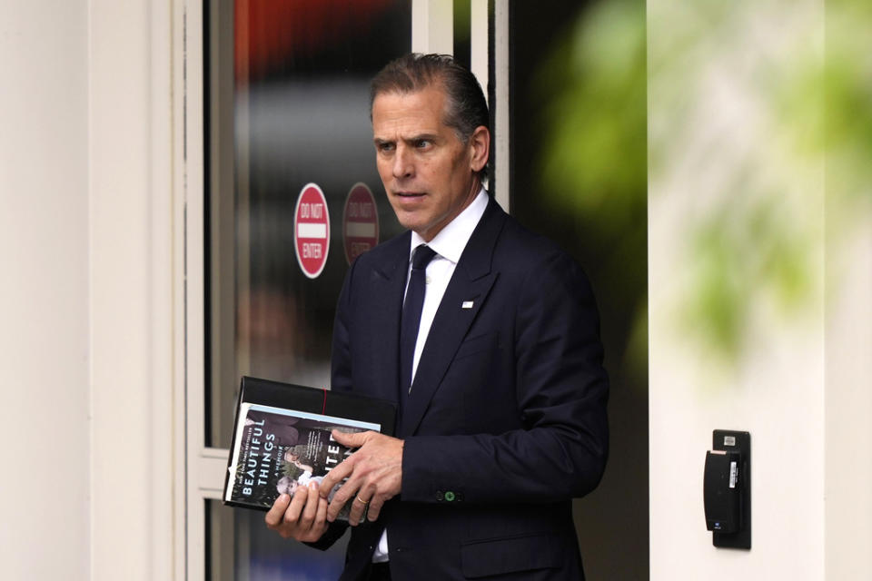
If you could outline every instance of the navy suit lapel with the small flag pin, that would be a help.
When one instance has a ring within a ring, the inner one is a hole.
[[[499,273],[491,271],[491,259],[505,219],[505,212],[491,199],[463,250],[424,343],[401,418],[401,436],[410,436],[418,428],[454,354],[497,280]]]

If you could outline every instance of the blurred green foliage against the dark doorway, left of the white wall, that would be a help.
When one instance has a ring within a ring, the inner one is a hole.
[[[648,172],[644,3],[590,5],[553,43],[533,86],[545,103],[543,191],[603,233],[632,227]]]

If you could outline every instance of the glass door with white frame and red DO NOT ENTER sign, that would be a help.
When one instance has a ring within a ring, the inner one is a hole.
[[[188,576],[336,578],[343,542],[327,552],[304,547],[267,530],[263,513],[221,503],[240,377],[329,387],[345,272],[357,254],[401,232],[375,169],[370,79],[411,50],[451,53],[456,45],[487,86],[488,2],[186,6],[189,175],[198,129],[203,139],[202,213],[187,206]],[[196,45],[203,47],[201,116]]]

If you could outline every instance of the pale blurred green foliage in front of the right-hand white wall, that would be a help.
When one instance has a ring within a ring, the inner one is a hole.
[[[817,312],[825,222],[872,199],[872,3],[662,1],[648,29],[649,175],[686,217],[675,320],[735,361],[761,310]]]

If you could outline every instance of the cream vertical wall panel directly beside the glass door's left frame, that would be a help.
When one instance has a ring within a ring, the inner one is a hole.
[[[91,552],[100,580],[170,579],[183,559],[170,10],[89,2]]]

